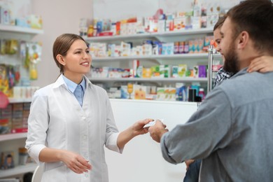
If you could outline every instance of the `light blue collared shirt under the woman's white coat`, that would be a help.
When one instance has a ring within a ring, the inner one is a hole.
[[[83,95],[85,94],[85,87],[86,87],[85,78],[83,78],[83,80],[79,84],[82,87],[83,94],[76,94],[75,90],[76,90],[76,87],[78,86],[78,84],[76,84],[73,81],[69,80],[69,78],[66,78],[63,74],[62,74],[62,78],[64,78],[64,82],[66,83],[69,91],[72,92],[75,95],[75,97],[78,100],[78,103],[80,104],[80,106],[83,106]]]

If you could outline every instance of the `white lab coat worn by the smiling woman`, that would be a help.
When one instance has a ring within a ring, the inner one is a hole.
[[[104,145],[122,153],[123,149],[117,146],[119,133],[106,91],[93,85],[86,77],[85,80],[83,107],[68,90],[62,76],[35,92],[28,120],[26,148],[38,164],[38,155],[45,147],[76,152],[90,161],[92,170],[76,174],[63,162],[45,163],[42,181],[107,182]]]

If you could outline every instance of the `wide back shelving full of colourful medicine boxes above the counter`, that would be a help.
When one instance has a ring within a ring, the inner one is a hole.
[[[92,82],[122,93],[127,83],[147,86],[147,91],[154,85],[155,90],[169,87],[172,92],[181,85],[206,90],[208,48],[214,44],[214,25],[224,11],[218,3],[197,1],[174,12],[167,12],[165,3],[156,6],[152,16],[145,10],[142,15],[118,20],[107,12],[94,12],[92,25],[80,20],[80,35],[90,43],[88,78]]]

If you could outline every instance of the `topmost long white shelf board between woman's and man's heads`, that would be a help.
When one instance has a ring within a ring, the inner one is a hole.
[[[85,38],[86,41],[119,41],[125,39],[138,39],[138,38],[154,38],[164,36],[184,36],[193,34],[211,34],[213,28],[202,28],[202,29],[185,29],[179,31],[165,31],[157,33],[143,33],[143,34],[132,34],[132,35],[120,35],[120,36],[93,36]]]

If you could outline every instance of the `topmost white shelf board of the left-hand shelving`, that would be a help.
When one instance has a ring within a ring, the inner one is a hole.
[[[0,25],[0,31],[18,32],[22,34],[43,34],[42,29],[31,29],[27,27],[18,27],[13,25]]]

